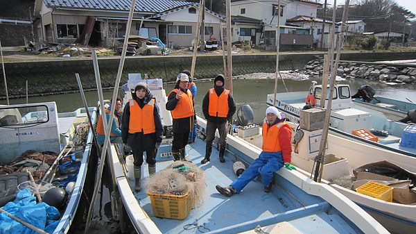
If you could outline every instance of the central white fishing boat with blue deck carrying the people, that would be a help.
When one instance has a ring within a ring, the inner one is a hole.
[[[151,80],[147,82],[155,83]],[[129,92],[125,92],[126,96]],[[165,90],[160,87],[151,92],[159,108],[164,109],[163,103],[167,101]],[[158,97],[158,93],[162,97]],[[170,113],[163,110],[161,113],[162,122],[168,122]],[[202,169],[206,183],[206,192],[198,206],[193,206],[187,196],[155,194],[148,187],[133,192],[132,166],[128,159],[122,157],[119,148],[112,145],[113,176],[120,199],[138,233],[183,233],[187,230],[203,233],[271,233],[279,230],[295,233],[387,233],[370,215],[329,185],[315,183],[288,169],[281,169],[275,174],[275,185],[270,193],[263,192],[263,183],[257,181],[249,183],[235,197],[224,197],[216,192],[215,185],[229,185],[237,178],[233,170],[234,162],[240,161],[248,166],[259,156],[261,149],[239,137],[228,135],[225,163],[216,160],[218,150],[214,149],[209,163],[201,165],[200,160],[205,156],[205,142],[202,140],[205,126],[205,119],[198,117],[198,137],[186,148],[186,159]],[[157,152],[156,174],[177,163],[169,154],[172,139],[166,133]],[[150,180],[147,168],[144,166],[141,170],[144,181]]]

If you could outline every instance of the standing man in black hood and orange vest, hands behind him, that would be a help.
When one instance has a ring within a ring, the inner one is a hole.
[[[232,115],[236,112],[236,103],[229,90],[224,88],[224,75],[218,74],[214,79],[214,88],[208,90],[202,100],[202,112],[207,119],[207,143],[205,147],[205,158],[201,164],[209,161],[212,151],[212,142],[215,138],[215,131],[220,133],[220,151],[218,156],[220,162],[225,162],[224,153],[227,145],[227,122],[231,122]]]

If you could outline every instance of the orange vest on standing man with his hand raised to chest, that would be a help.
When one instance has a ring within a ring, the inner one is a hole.
[[[171,110],[173,119],[182,119],[184,117],[190,117],[195,115],[195,110],[193,110],[193,97],[189,90],[187,92],[182,92],[180,89],[175,89],[169,92],[168,97],[171,96],[171,93],[175,92],[180,94],[180,100],[177,102],[175,109]]]

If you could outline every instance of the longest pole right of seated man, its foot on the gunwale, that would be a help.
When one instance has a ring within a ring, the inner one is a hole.
[[[331,117],[333,88],[335,87],[335,80],[336,80],[336,71],[337,71],[336,67],[338,67],[338,64],[340,62],[341,48],[343,47],[344,35],[345,35],[346,28],[347,28],[346,22],[347,22],[348,8],[349,8],[349,0],[346,0],[345,6],[344,6],[344,12],[343,12],[343,22],[341,24],[341,32],[338,34],[336,60],[333,66],[331,67],[331,81],[330,81],[329,95],[328,95],[329,97],[328,106],[327,106],[327,111],[325,112],[324,128],[322,130],[319,153],[318,153],[318,156],[316,156],[315,158],[316,168],[315,168],[315,175],[313,176],[313,181],[316,181],[316,182],[320,182],[322,178],[322,167],[323,167],[325,148],[326,148],[327,137],[328,137],[328,132],[329,132],[329,119]],[[323,96],[322,99],[324,98],[325,97]]]

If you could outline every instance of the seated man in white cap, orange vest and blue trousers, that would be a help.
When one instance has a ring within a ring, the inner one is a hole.
[[[264,192],[272,190],[273,173],[281,167],[296,169],[291,165],[292,159],[292,128],[284,122],[276,107],[270,106],[266,110],[266,122],[263,124],[263,145],[259,158],[255,159],[248,169],[236,178],[228,187],[216,185],[216,190],[231,197],[239,193],[252,179],[261,174]]]

